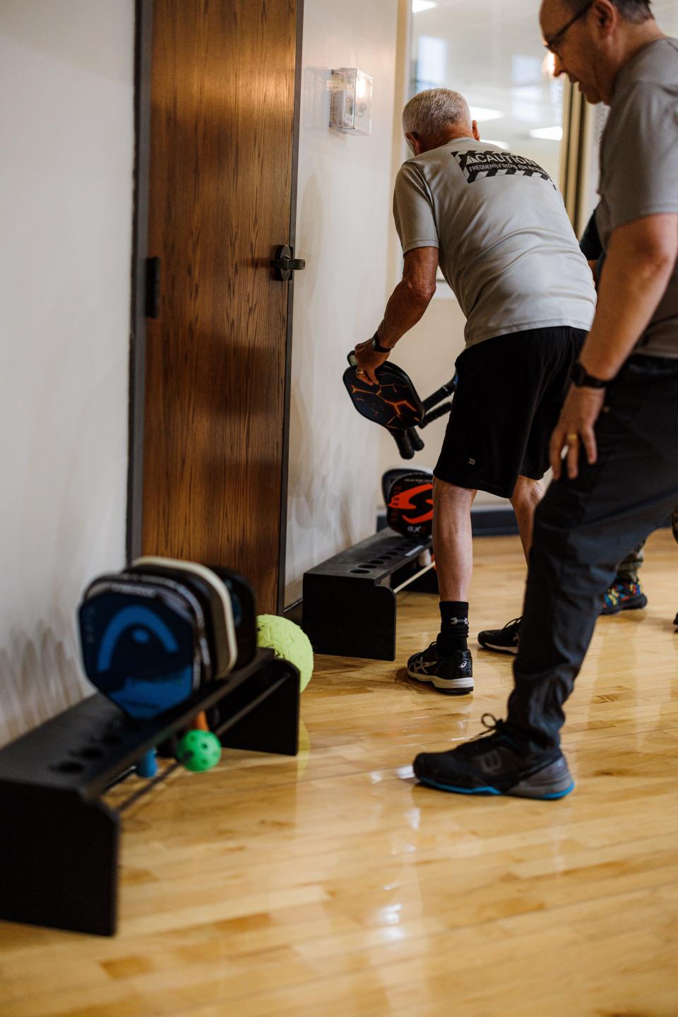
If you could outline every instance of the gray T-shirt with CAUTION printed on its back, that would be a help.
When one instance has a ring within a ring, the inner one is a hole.
[[[454,138],[404,163],[393,216],[404,253],[439,248],[467,346],[529,328],[591,327],[591,271],[562,197],[532,160]]]

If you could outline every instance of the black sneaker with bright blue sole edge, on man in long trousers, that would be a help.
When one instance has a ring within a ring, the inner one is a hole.
[[[489,717],[491,723],[488,723]],[[518,744],[503,720],[483,714],[489,733],[446,753],[420,753],[415,776],[429,787],[456,794],[512,794],[562,798],[574,787],[560,749],[533,752]]]

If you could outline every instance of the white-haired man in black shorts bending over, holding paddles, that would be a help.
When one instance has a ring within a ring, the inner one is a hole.
[[[426,310],[440,265],[467,318],[466,349],[456,360],[458,383],[434,471],[440,633],[410,658],[408,673],[463,695],[474,687],[471,506],[478,490],[510,498],[529,554],[549,437],[596,295],[548,173],[482,141],[463,96],[447,88],[420,93],[405,107],[403,126],[414,152],[393,197],[403,280],[356,357],[376,383],[375,369]],[[440,372],[447,376],[449,367],[440,364]],[[510,649],[515,626],[479,639],[488,645],[496,636]]]

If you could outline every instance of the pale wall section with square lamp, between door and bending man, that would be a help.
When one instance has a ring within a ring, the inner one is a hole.
[[[305,0],[286,603],[306,569],[374,532],[380,429],[353,409],[346,356],[383,314],[391,203],[395,0]],[[328,127],[332,67],[374,79],[369,137]]]

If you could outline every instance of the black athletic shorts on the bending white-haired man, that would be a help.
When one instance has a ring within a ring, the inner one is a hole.
[[[541,480],[585,336],[568,325],[531,328],[465,350],[435,476],[504,498],[518,475]]]

